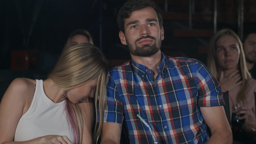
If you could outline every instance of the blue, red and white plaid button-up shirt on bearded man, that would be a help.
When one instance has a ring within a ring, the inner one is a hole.
[[[155,80],[133,60],[109,71],[104,122],[124,124],[131,144],[205,143],[209,139],[200,107],[224,105],[217,80],[202,62],[164,56]],[[149,128],[141,121],[140,115]]]

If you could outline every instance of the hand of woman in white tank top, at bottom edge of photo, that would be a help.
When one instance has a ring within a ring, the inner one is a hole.
[[[73,144],[67,136],[46,135],[42,137],[43,144]]]

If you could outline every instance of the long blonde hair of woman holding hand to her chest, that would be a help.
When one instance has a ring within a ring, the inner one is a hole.
[[[236,35],[236,33],[233,30],[221,29],[211,37],[210,46],[208,49],[207,67],[208,69],[210,69],[213,76],[216,77],[218,80],[220,80],[219,66],[216,59],[216,49],[217,49],[216,43],[217,43],[217,40],[219,40],[222,36],[232,36],[238,43],[238,46],[240,49],[240,57],[237,65],[238,65],[240,74],[242,76],[243,83],[238,91],[236,101],[242,101],[244,103],[246,100],[245,92],[248,85],[248,79],[251,76],[246,68],[246,61],[245,61],[242,43],[239,37]]]

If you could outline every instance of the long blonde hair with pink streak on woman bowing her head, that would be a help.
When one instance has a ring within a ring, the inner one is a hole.
[[[59,88],[64,90],[75,88],[98,77],[94,98],[96,121],[98,120],[97,107],[100,121],[95,125],[95,137],[99,137],[102,130],[107,75],[107,60],[101,50],[90,43],[83,43],[62,52],[59,61],[48,76]],[[83,125],[81,109],[69,100],[67,103],[69,119],[71,122],[75,121],[73,125],[71,124],[75,132],[75,139],[78,140],[77,143],[81,143]]]

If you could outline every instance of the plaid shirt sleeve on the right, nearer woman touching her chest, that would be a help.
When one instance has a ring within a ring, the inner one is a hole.
[[[197,65],[197,82],[199,107],[225,105],[219,82],[201,62]]]

